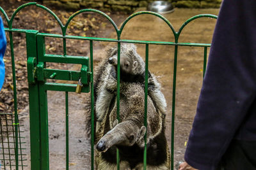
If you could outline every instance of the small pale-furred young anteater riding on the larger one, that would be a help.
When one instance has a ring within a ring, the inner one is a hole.
[[[102,118],[108,112],[111,99],[116,93],[116,65],[117,46],[108,50],[108,56],[95,71],[94,94],[97,124],[102,121]],[[120,81],[136,82],[143,86],[145,84],[145,62],[136,52],[136,46],[133,44],[125,43],[120,46]],[[115,83],[115,85],[107,88],[109,83]],[[161,85],[154,74],[148,72],[148,94],[152,98],[156,109],[164,114],[166,101],[160,89]]]

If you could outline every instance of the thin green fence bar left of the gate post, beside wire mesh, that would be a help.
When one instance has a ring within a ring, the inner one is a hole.
[[[15,114],[15,164],[16,170],[19,170],[19,155],[18,155],[18,111],[17,111],[17,90],[16,90],[16,74],[15,74],[15,60],[13,52],[13,39],[12,32],[9,32],[11,56],[12,56],[12,80],[13,80],[13,103],[14,103],[14,114]]]

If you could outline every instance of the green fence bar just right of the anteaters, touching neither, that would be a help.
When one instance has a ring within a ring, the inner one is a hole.
[[[177,75],[177,55],[178,45],[175,45],[174,62],[173,62],[173,90],[172,90],[172,138],[171,138],[171,169],[174,164],[174,122],[175,122],[175,95],[176,95],[176,75]]]

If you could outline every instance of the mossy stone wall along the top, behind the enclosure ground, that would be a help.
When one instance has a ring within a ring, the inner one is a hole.
[[[43,0],[46,6],[57,6],[68,10],[95,8],[112,11],[135,11],[153,0]],[[177,8],[219,8],[221,0],[167,0]]]

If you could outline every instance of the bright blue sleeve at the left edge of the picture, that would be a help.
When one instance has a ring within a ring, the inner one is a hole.
[[[4,32],[4,25],[3,25],[3,20],[0,17],[0,90],[3,86],[4,83],[4,52],[6,48],[6,37],[5,37],[5,32]]]

